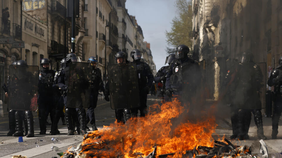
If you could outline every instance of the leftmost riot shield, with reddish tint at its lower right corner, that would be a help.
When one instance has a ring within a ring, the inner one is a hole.
[[[38,66],[10,65],[8,106],[15,110],[36,110]]]

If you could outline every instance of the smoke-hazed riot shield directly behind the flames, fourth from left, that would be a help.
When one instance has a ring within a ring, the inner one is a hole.
[[[204,105],[205,92],[205,60],[182,66],[182,102],[192,106]]]

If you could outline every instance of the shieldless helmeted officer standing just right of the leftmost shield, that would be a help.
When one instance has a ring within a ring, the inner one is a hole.
[[[40,126],[39,134],[46,134],[46,121],[50,113],[53,121],[53,80],[55,71],[50,68],[49,59],[41,59],[38,85],[38,119]]]

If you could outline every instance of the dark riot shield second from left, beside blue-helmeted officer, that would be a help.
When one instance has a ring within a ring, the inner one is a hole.
[[[91,63],[70,62],[68,75],[67,107],[90,107]]]

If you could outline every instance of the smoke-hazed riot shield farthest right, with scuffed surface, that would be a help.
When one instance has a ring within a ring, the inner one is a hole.
[[[261,109],[266,104],[266,63],[239,63],[234,74],[232,103],[239,109]]]

